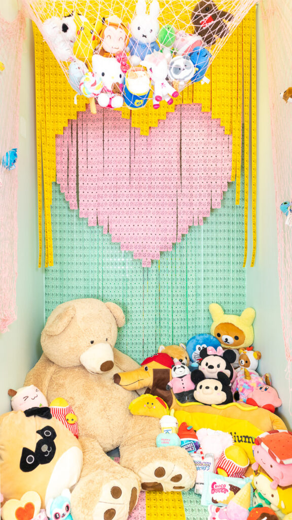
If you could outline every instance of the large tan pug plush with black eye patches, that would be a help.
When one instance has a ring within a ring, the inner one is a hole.
[[[37,410],[39,415],[30,415]],[[4,499],[34,490],[42,507],[77,484],[83,454],[78,440],[52,418],[49,408],[12,411],[0,417],[0,474]],[[28,415],[28,417],[26,417]]]

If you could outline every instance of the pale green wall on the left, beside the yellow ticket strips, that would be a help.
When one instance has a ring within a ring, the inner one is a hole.
[[[14,19],[17,1],[0,0],[0,14]],[[44,271],[37,267],[35,158],[34,49],[32,27],[28,22],[20,87],[18,317],[9,332],[0,334],[0,414],[10,410],[7,389],[22,386],[26,373],[39,356],[39,334],[44,324]]]

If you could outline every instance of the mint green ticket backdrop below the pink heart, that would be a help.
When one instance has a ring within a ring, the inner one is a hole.
[[[209,332],[208,305],[217,302],[228,313],[246,306],[243,205],[236,206],[235,183],[222,207],[204,225],[189,228],[171,252],[142,268],[130,251],[121,251],[101,227],[70,210],[58,185],[53,186],[54,267],[46,269],[46,318],[60,303],[99,298],[120,305],[126,324],[117,348],[141,362],[161,344]]]

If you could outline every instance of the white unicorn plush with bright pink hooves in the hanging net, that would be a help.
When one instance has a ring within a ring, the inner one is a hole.
[[[175,98],[179,93],[166,80],[168,75],[168,60],[165,55],[155,50],[153,54],[148,54],[145,57],[141,65],[147,68],[152,84],[154,85],[153,108],[159,108],[162,99],[165,99],[168,105],[172,105],[174,100],[171,99],[171,97]]]

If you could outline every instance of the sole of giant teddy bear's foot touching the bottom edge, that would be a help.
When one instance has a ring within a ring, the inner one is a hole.
[[[93,520],[126,520],[138,500],[139,484],[130,478],[110,480],[102,486]]]

